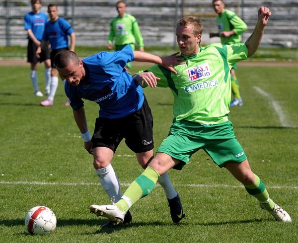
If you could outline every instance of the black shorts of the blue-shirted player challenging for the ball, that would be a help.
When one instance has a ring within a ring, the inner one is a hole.
[[[150,107],[145,98],[141,109],[124,118],[97,118],[93,147],[106,147],[114,152],[125,138],[126,145],[135,153],[147,152],[153,149],[153,119]]]

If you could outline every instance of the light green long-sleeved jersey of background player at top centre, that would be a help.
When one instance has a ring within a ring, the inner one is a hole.
[[[125,14],[123,18],[115,17],[110,23],[110,34],[108,42],[115,40],[116,46],[138,43],[140,48],[144,48],[143,37],[136,18],[130,14]]]

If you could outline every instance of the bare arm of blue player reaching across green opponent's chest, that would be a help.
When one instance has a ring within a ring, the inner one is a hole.
[[[173,68],[173,65],[176,64],[185,64],[185,62],[181,62],[181,60],[184,60],[183,57],[177,56],[178,53],[174,53],[171,56],[161,58],[158,56],[155,56],[153,54],[147,53],[147,52],[140,52],[140,51],[134,51],[135,59],[134,61],[140,61],[140,62],[152,62],[158,65],[163,65],[166,69],[170,70],[173,73],[177,73],[176,70]]]

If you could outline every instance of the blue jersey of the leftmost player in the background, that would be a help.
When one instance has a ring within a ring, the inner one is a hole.
[[[41,41],[47,20],[48,20],[48,16],[44,12],[26,13],[24,16],[25,30],[31,29],[36,39]],[[27,39],[30,39],[29,36],[27,37]]]

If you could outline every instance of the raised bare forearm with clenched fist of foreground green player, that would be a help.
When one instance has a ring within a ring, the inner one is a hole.
[[[259,48],[262,41],[265,26],[267,25],[270,16],[271,12],[268,7],[261,6],[259,8],[258,22],[256,24],[256,27],[251,36],[248,37],[247,41],[245,42],[248,51],[248,58],[251,57]]]

